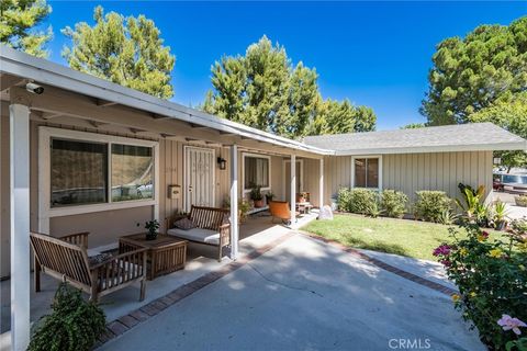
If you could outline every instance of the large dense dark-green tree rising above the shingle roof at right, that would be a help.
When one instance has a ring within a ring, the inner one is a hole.
[[[527,16],[447,38],[433,63],[422,113],[430,125],[467,123],[472,113],[527,90]]]

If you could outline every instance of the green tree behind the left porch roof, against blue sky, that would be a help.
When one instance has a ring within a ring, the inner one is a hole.
[[[173,95],[170,73],[176,57],[162,45],[154,21],[144,15],[104,14],[102,7],[94,9],[93,20],[93,26],[80,22],[75,30],[63,30],[72,41],[63,50],[71,68],[158,98]]]

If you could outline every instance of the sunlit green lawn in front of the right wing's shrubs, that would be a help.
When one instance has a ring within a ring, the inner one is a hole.
[[[408,219],[335,215],[333,220],[313,220],[302,229],[354,248],[435,261],[431,251],[449,241],[449,227]],[[487,231],[491,239],[504,238],[503,234]]]

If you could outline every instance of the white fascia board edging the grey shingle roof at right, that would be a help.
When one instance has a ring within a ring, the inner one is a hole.
[[[503,151],[503,150],[525,150],[527,151],[527,140],[517,143],[492,143],[474,145],[446,145],[446,146],[422,146],[422,147],[392,147],[392,148],[370,148],[370,149],[349,149],[337,150],[335,156],[355,156],[355,155],[389,155],[389,154],[424,154],[424,152],[456,152],[456,151]]]

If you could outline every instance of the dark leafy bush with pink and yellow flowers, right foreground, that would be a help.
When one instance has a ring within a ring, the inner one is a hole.
[[[520,228],[522,226],[515,226]],[[508,242],[491,240],[476,224],[464,224],[467,236],[451,228],[450,245],[434,256],[458,285],[456,308],[480,331],[483,342],[495,350],[527,350],[527,236],[509,233]]]

